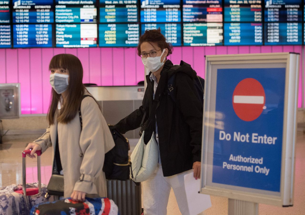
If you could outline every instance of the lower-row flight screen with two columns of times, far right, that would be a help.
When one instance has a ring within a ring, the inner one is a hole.
[[[302,23],[265,23],[265,45],[302,45]]]

